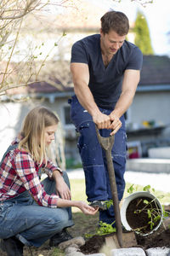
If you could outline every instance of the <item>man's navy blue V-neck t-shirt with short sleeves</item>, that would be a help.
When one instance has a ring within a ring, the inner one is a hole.
[[[125,41],[109,65],[105,67],[100,49],[100,35],[95,34],[73,44],[71,62],[88,64],[90,74],[88,86],[94,101],[100,108],[112,109],[122,92],[124,71],[140,70],[143,55],[137,46]]]

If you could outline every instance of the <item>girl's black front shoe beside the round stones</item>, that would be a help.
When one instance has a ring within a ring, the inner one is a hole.
[[[69,232],[66,229],[64,229],[50,238],[49,246],[57,247],[59,243],[71,240],[72,238],[73,237],[69,234]]]

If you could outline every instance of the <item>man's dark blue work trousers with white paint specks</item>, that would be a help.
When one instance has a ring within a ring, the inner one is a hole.
[[[71,100],[71,121],[80,133],[77,147],[82,159],[85,174],[86,194],[88,201],[107,201],[112,199],[109,174],[105,157],[105,150],[99,145],[95,125],[91,115],[82,108],[77,96]],[[99,108],[102,113],[110,114],[112,110]],[[125,131],[124,116],[121,117],[122,127],[115,135],[115,143],[111,150],[113,166],[116,176],[116,186],[119,201],[125,189],[124,172],[126,166],[127,136]],[[111,130],[100,130],[102,137],[109,137]],[[115,221],[113,207],[99,212],[99,220],[111,224]]]

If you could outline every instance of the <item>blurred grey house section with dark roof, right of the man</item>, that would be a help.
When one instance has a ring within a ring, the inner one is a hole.
[[[139,86],[127,111],[128,142],[139,142],[143,157],[149,148],[170,145],[169,68],[167,56],[144,55]]]

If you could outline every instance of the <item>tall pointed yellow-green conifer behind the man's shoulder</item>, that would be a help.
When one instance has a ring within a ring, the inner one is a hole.
[[[145,20],[144,15],[139,11],[134,24],[134,32],[134,44],[141,49],[144,55],[153,55],[154,51],[151,46],[150,31],[147,21]]]

